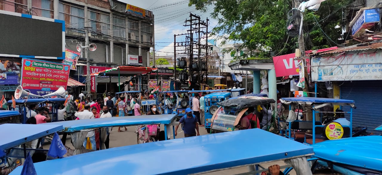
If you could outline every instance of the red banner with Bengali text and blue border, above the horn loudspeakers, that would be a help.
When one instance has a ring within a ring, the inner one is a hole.
[[[36,95],[45,95],[68,85],[70,64],[23,58],[21,86]]]

